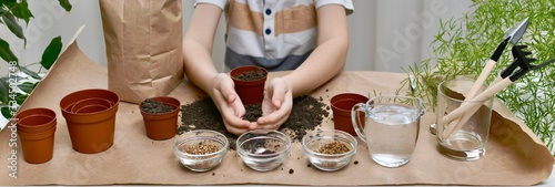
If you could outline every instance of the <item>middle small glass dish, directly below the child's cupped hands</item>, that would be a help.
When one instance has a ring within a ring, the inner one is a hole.
[[[269,172],[289,157],[291,137],[274,129],[254,129],[239,136],[236,147],[246,166],[258,172]]]

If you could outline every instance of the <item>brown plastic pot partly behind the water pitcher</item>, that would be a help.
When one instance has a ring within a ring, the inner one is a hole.
[[[333,113],[333,124],[335,129],[344,131],[353,136],[356,136],[356,132],[353,128],[353,122],[351,120],[351,108],[356,103],[366,103],[369,97],[356,94],[356,93],[341,93],[334,95],[330,103],[332,104]],[[361,113],[361,115],[364,115]],[[360,117],[361,123],[364,123],[364,116]]]

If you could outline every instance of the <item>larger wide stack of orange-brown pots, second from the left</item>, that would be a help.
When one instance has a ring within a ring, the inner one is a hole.
[[[113,145],[120,98],[108,90],[81,90],[60,101],[73,149],[94,154]]]

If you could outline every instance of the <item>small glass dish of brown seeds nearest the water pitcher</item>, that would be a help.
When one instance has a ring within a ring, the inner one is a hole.
[[[343,131],[320,129],[304,135],[302,145],[313,166],[321,170],[335,172],[351,163],[357,142]]]

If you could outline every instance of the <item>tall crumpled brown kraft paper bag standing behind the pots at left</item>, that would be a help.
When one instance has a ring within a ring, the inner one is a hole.
[[[108,89],[130,103],[183,80],[181,0],[100,0]]]

